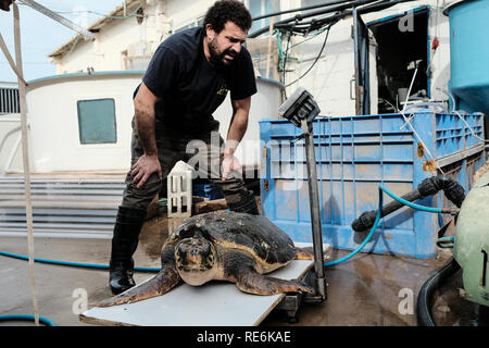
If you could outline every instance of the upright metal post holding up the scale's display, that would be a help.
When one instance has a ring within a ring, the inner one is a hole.
[[[309,201],[311,204],[311,225],[314,248],[314,271],[316,273],[316,290],[322,300],[326,299],[326,277],[324,274],[323,234],[321,231],[321,206],[317,189],[316,157],[314,152],[313,127],[304,119],[301,121],[301,129],[305,138],[305,157],[309,177]]]

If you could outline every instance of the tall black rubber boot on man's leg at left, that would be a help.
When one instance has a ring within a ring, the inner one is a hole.
[[[113,295],[118,295],[135,286],[133,279],[133,254],[138,247],[139,233],[145,222],[146,211],[118,207],[112,237],[109,285]]]

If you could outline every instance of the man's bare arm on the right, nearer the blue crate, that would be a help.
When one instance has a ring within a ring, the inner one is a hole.
[[[229,130],[227,132],[226,147],[224,149],[223,179],[226,179],[226,176],[230,171],[241,171],[241,165],[234,157],[234,153],[247,132],[251,97],[231,100],[231,105],[233,117]]]

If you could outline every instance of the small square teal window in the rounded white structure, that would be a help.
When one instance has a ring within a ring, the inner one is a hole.
[[[80,144],[114,144],[114,99],[78,100],[78,129]]]

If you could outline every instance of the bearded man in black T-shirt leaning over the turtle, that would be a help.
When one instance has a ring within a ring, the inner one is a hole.
[[[147,208],[159,192],[166,191],[166,176],[176,162],[197,162],[199,178],[221,188],[230,210],[259,213],[252,191],[246,189],[240,175],[231,175],[241,171],[234,152],[247,130],[251,96],[256,92],[253,64],[243,47],[251,24],[241,2],[216,1],[202,27],[172,35],[152,57],[134,94],[131,166],[110,261],[114,295],[135,285],[133,254]],[[228,92],[233,114],[224,142],[212,114]],[[191,141],[203,145],[197,154],[188,151]]]

